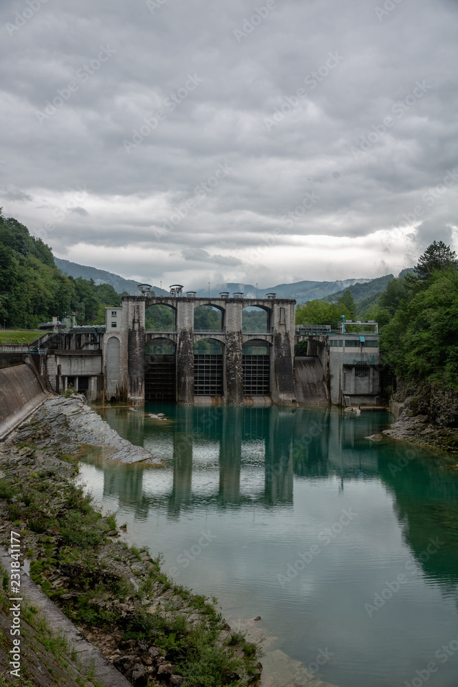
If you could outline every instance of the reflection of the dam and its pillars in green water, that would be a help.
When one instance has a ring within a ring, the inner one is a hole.
[[[152,435],[144,414],[127,420],[126,436],[138,444],[145,440],[153,451],[159,448],[172,468],[159,486],[155,470],[103,462],[104,495],[135,505],[139,517],[159,504],[166,504],[171,517],[199,504],[288,508],[295,477],[335,475],[343,488],[345,480],[377,473],[378,447],[361,440],[362,423],[333,408],[180,407],[179,421]],[[370,414],[363,429],[370,432],[373,422]]]

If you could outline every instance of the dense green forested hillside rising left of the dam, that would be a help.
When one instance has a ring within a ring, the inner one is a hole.
[[[113,286],[63,275],[49,246],[16,219],[5,218],[0,208],[2,325],[33,329],[66,313],[76,313],[78,324],[104,324],[104,308],[120,303]]]

